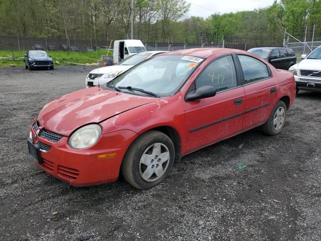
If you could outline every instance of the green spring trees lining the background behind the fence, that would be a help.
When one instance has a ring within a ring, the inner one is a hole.
[[[321,33],[321,0],[275,0],[264,9],[207,19],[187,18],[189,8],[185,0],[135,0],[134,38],[195,44],[224,36],[275,44],[285,28],[301,36],[305,25],[315,25]],[[1,0],[0,29],[9,36],[116,40],[130,36],[130,13],[129,0]]]

